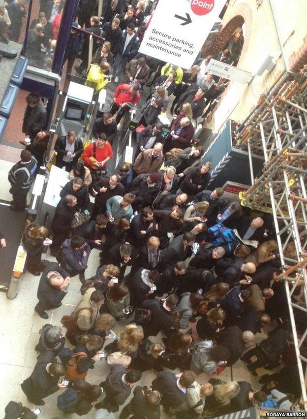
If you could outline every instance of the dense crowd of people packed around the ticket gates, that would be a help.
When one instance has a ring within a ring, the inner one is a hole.
[[[84,149],[73,130],[56,141],[56,165],[69,172],[70,180],[61,190],[51,231],[30,224],[23,244],[28,271],[40,276],[34,310],[41,318],[47,320],[48,311],[61,306],[75,276],[80,296],[71,315],[61,319],[63,327],[47,323],[42,328],[37,363],[21,387],[37,406],[61,390],[59,410],[82,416],[94,405],[95,419],[111,414],[157,419],[160,406],[177,418],[216,417],[258,405],[290,409],[301,389],[272,218],[225,198],[223,185],[208,188],[212,162],[202,161],[203,147],[191,144],[191,120],[203,114],[227,81],[206,74],[211,56],[185,70],[137,53],[157,2],[112,1],[115,17],[102,26],[104,43],[91,68],[100,68],[95,81],[101,88],[107,72],[116,83],[123,74],[126,83],[116,89],[110,111],[94,122],[90,145]],[[41,1],[46,22],[54,21],[61,7],[60,0],[49,3]],[[81,9],[85,4],[80,1]],[[80,10],[79,25],[99,27],[91,7]],[[42,18],[40,13],[34,31]],[[218,58],[234,64],[240,42],[235,32]],[[84,56],[76,71],[86,66]],[[152,90],[136,130],[134,161],[109,173],[117,124],[126,103],[138,103],[145,83]],[[165,137],[158,116],[171,95],[175,114]],[[9,173],[15,211],[26,207],[49,139],[40,98],[30,94],[27,104],[29,144]],[[0,243],[6,245],[1,234]],[[57,261],[42,263],[46,246]],[[89,278],[91,252],[97,270]],[[302,287],[295,291],[292,298],[300,304]],[[295,316],[303,332],[306,318],[301,312]],[[267,336],[254,345],[259,333]],[[305,349],[303,343],[301,354]],[[88,371],[103,358],[110,365],[106,380],[89,383]],[[259,368],[268,371],[260,377],[261,390],[246,381],[211,377],[239,359],[253,376]],[[156,378],[142,387],[138,383],[148,370]],[[198,377],[202,373],[206,376]],[[17,409],[16,418],[36,417],[15,402],[6,409]]]

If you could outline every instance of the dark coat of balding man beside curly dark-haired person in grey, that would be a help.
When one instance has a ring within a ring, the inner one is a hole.
[[[229,326],[226,329],[221,330],[217,334],[217,344],[224,346],[230,352],[227,366],[235,364],[245,351],[245,342],[242,340],[242,330],[238,326]]]

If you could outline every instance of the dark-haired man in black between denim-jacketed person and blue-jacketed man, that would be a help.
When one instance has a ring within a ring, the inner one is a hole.
[[[101,247],[101,237],[108,225],[108,219],[105,215],[99,214],[92,221],[86,221],[76,229],[76,236],[83,237],[91,249]]]

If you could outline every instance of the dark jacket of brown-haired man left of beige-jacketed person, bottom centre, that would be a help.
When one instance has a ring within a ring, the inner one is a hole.
[[[176,409],[185,402],[185,393],[177,386],[177,378],[174,373],[158,372],[152,387],[153,390],[160,392],[164,407]]]

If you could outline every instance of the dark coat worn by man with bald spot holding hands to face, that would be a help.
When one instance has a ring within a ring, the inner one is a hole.
[[[45,268],[42,276],[39,280],[38,289],[37,289],[37,298],[43,304],[56,306],[61,303],[62,299],[66,295],[65,291],[61,291],[57,287],[50,285],[47,275],[50,271],[57,271],[63,278],[68,276],[68,273],[59,266],[56,262],[48,263]]]

